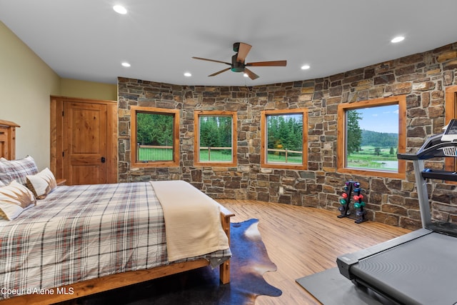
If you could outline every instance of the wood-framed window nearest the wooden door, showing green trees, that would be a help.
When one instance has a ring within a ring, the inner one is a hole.
[[[179,110],[131,106],[131,166],[179,166]]]

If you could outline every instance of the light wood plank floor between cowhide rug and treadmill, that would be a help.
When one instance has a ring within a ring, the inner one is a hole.
[[[296,279],[336,267],[336,257],[409,232],[372,221],[355,224],[338,219],[334,211],[273,204],[253,200],[219,199],[233,211],[232,222],[256,218],[258,230],[277,271],[264,275],[269,284],[283,291],[278,297],[258,296],[256,305],[320,304]]]

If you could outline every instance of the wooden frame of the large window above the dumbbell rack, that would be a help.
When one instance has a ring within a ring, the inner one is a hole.
[[[337,129],[337,171],[343,174],[378,176],[394,179],[405,179],[406,161],[398,160],[398,171],[380,171],[370,169],[353,169],[346,167],[346,111],[354,109],[389,106],[398,104],[398,153],[406,152],[406,96],[391,96],[383,99],[356,101],[354,103],[338,104]]]

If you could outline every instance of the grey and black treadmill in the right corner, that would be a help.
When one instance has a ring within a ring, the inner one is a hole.
[[[413,161],[422,229],[336,260],[353,284],[391,304],[457,304],[457,224],[431,219],[427,191],[427,179],[457,181],[457,172],[424,168],[424,160],[443,157],[457,157],[456,119],[416,154],[398,154],[398,159]]]

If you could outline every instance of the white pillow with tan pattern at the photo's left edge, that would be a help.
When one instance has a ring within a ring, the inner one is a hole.
[[[17,181],[0,187],[0,217],[3,219],[13,220],[35,204],[34,194]]]

